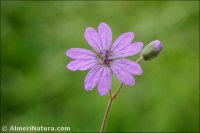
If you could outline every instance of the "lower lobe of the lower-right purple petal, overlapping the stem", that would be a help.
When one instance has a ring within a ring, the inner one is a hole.
[[[132,86],[135,84],[135,80],[131,73],[129,73],[126,69],[121,68],[115,64],[111,65],[111,69],[113,73],[117,76],[117,78],[124,84]]]

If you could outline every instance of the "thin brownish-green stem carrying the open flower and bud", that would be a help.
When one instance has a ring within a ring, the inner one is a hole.
[[[143,58],[140,57],[136,62],[139,63],[140,61],[142,61]],[[100,133],[103,133],[104,132],[104,129],[106,127],[106,123],[108,121],[108,116],[109,116],[109,112],[110,112],[110,108],[111,108],[111,105],[112,105],[112,102],[115,98],[117,98],[117,95],[119,94],[120,90],[122,89],[123,87],[123,83],[121,82],[118,89],[114,92],[114,94],[112,95],[111,93],[111,90],[110,90],[110,93],[109,93],[109,101],[108,101],[108,104],[107,104],[107,107],[106,107],[106,111],[105,111],[105,114],[104,114],[104,118],[103,118],[103,121],[102,121],[102,124],[101,124],[101,130],[100,130]]]

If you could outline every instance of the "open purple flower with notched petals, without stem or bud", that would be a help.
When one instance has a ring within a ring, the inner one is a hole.
[[[97,85],[101,96],[111,89],[112,73],[126,85],[135,84],[133,75],[141,75],[141,66],[125,57],[135,55],[142,50],[143,43],[132,43],[134,34],[126,32],[120,35],[112,44],[112,31],[106,23],[98,26],[98,32],[88,27],[84,33],[85,39],[94,51],[71,48],[66,55],[72,59],[67,68],[72,71],[91,69],[85,78],[85,89],[93,90]]]

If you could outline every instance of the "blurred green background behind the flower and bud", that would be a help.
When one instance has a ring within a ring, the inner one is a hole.
[[[2,125],[99,131],[108,96],[84,90],[87,72],[67,70],[65,51],[90,49],[84,30],[101,22],[114,39],[132,31],[134,41],[164,44],[158,58],[141,63],[136,85],[123,87],[106,131],[198,132],[199,1],[1,1]]]

